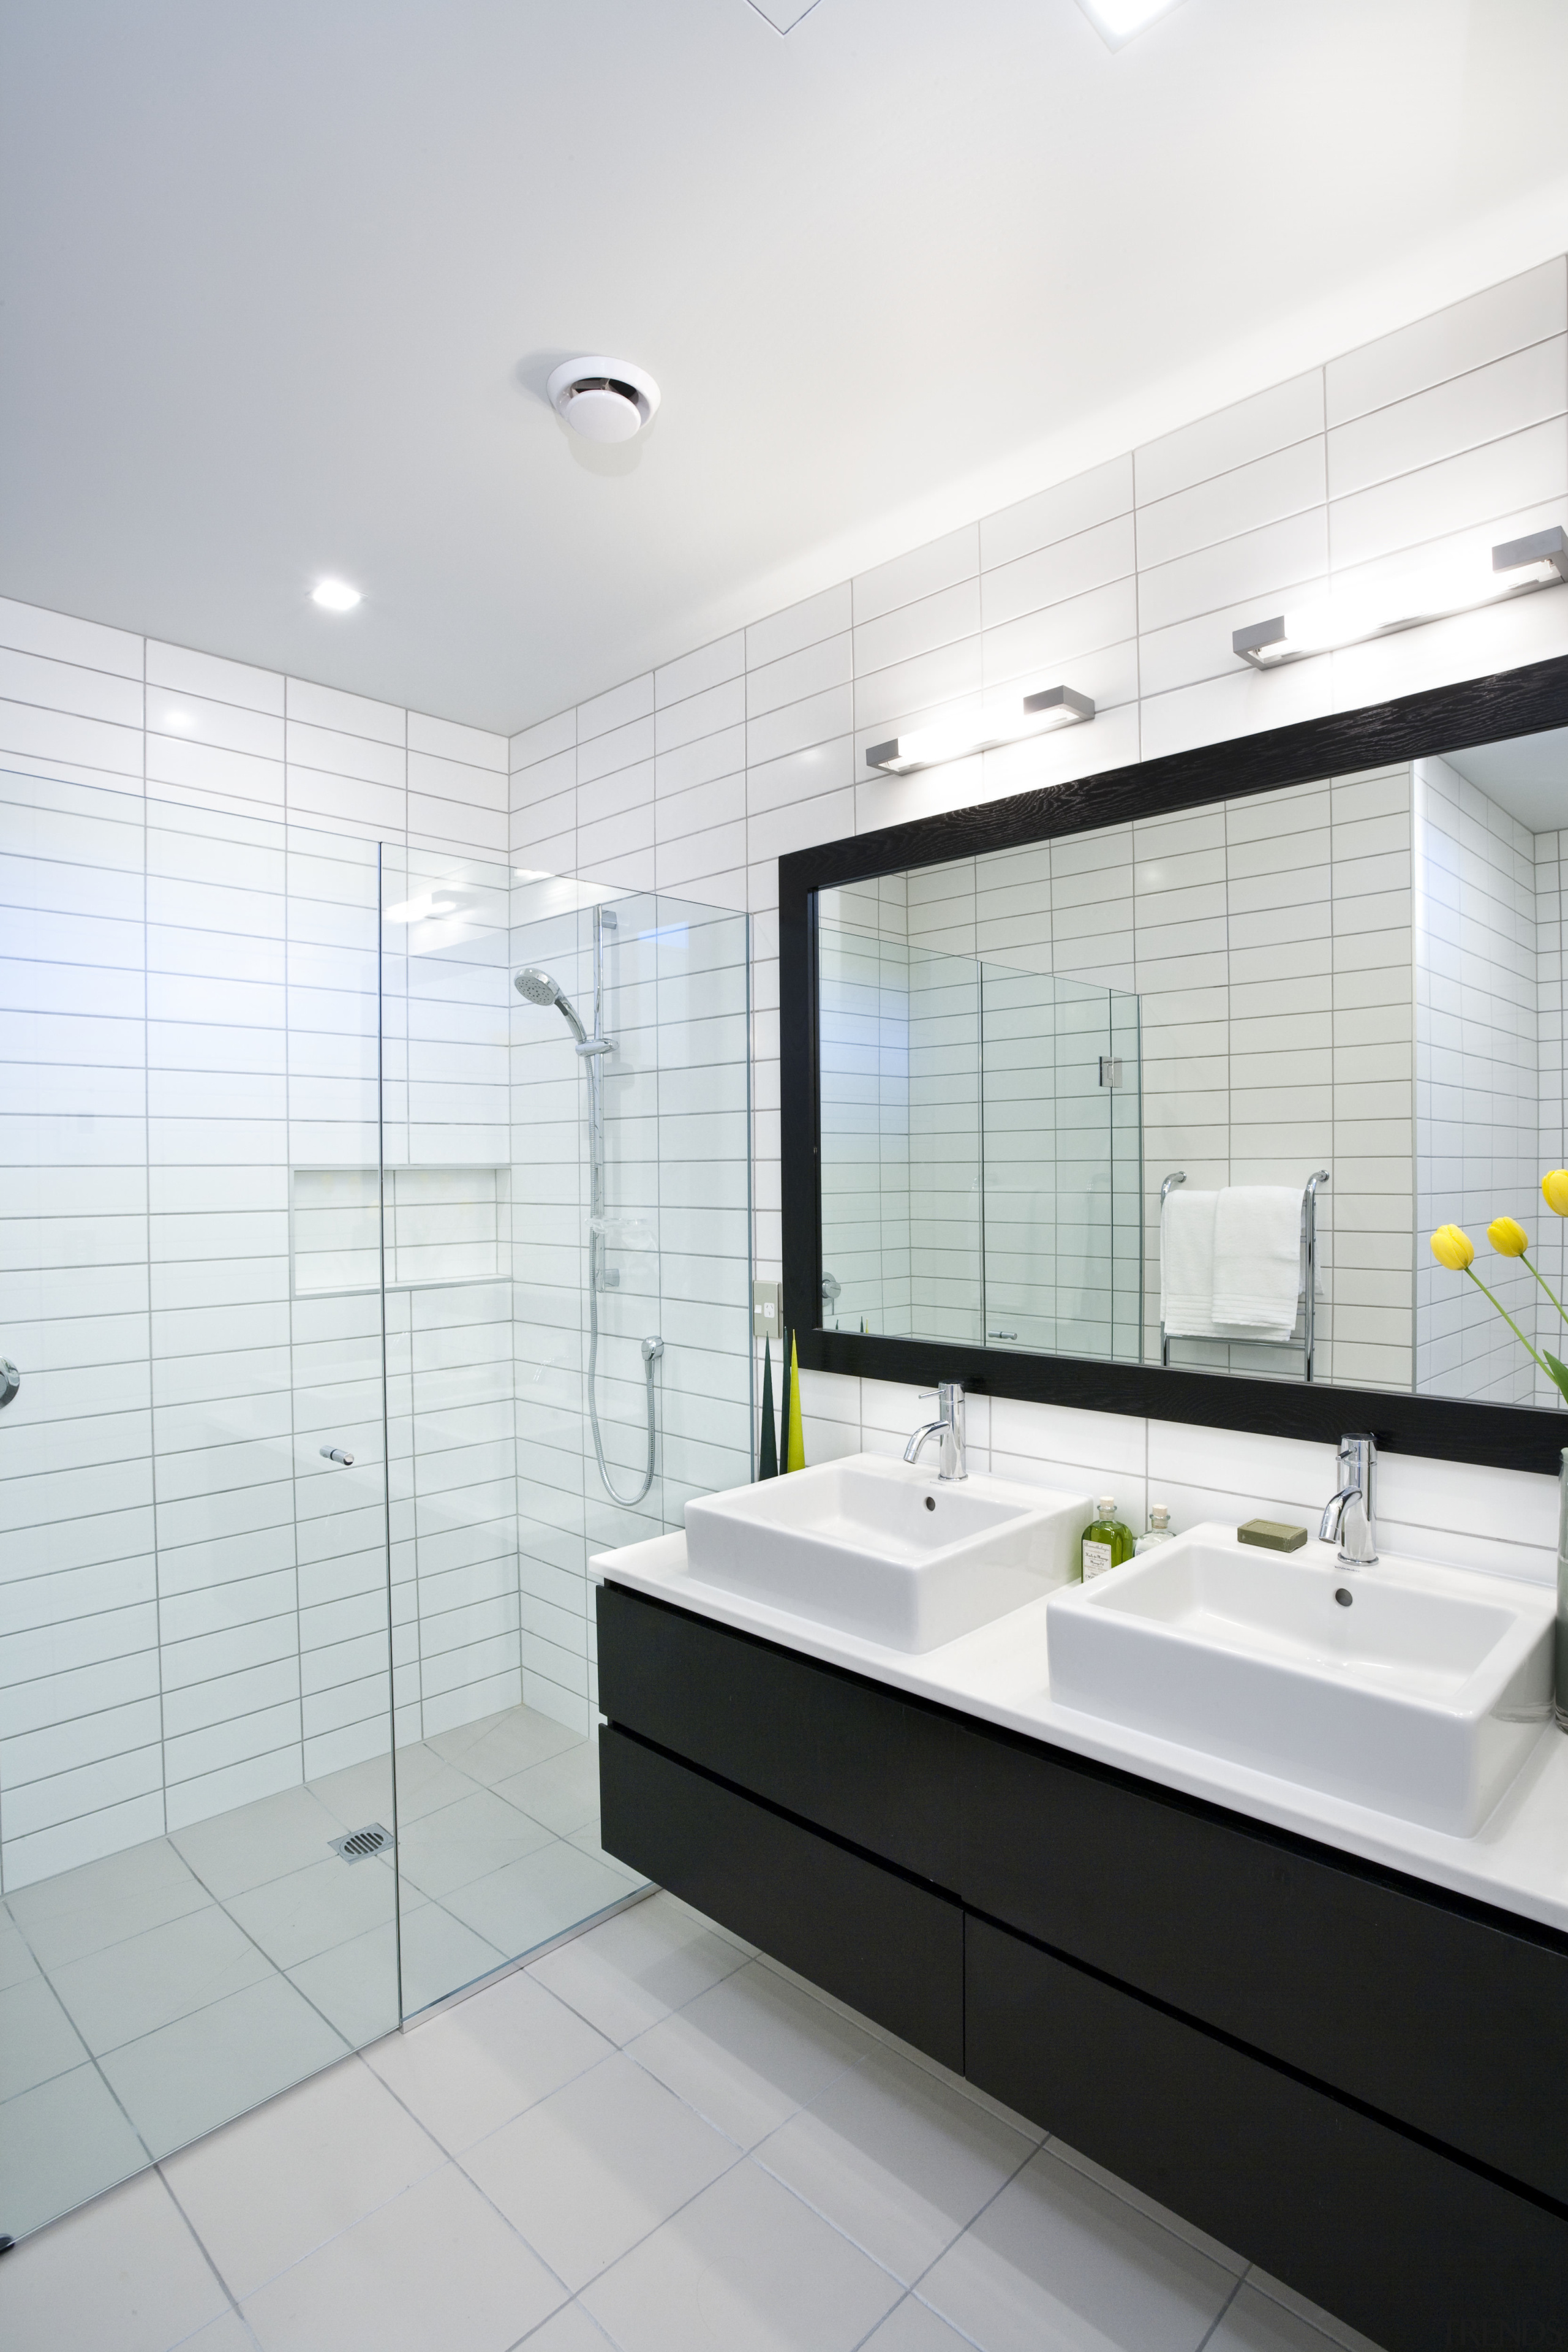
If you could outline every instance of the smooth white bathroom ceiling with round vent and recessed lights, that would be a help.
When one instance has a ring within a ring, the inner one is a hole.
[[[512,729],[1568,245],[1561,0],[769,16],[0,0],[0,593]]]

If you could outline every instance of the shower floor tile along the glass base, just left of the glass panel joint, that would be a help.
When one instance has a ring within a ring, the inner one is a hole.
[[[176,2018],[101,2065],[153,2154],[186,2147],[275,2091],[348,2056],[341,2034],[284,1976]]]

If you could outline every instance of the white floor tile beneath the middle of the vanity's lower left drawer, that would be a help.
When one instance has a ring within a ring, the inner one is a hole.
[[[832,2009],[748,1962],[630,2042],[628,2058],[738,2147],[755,2147],[875,2046]]]

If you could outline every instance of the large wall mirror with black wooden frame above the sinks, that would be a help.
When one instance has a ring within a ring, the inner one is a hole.
[[[802,1364],[1556,1470],[1566,873],[1568,659],[783,858]]]

